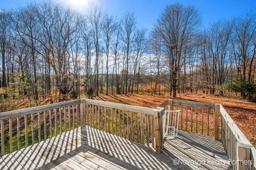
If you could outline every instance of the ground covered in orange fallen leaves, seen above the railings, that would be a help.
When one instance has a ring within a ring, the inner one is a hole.
[[[115,95],[95,97],[97,100],[111,101],[134,106],[155,108],[169,96]],[[236,97],[220,97],[216,95],[180,95],[178,100],[199,101],[221,104],[237,126],[242,130],[252,145],[256,146],[256,104]]]

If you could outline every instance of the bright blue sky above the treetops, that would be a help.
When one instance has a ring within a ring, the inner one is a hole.
[[[0,8],[16,8],[19,5],[31,2],[31,0],[1,0]],[[132,11],[137,16],[139,27],[151,28],[164,7],[172,3],[194,5],[198,8],[203,19],[203,25],[208,27],[218,20],[229,20],[235,16],[244,16],[246,12],[256,13],[255,0],[52,0],[57,3],[73,6],[79,12],[84,12],[86,7],[92,5],[101,6],[103,10],[121,18],[125,11]]]

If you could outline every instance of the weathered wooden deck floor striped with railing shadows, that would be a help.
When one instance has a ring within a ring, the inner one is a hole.
[[[178,165],[174,165],[177,163]],[[204,164],[198,164],[204,161]],[[222,163],[222,164],[220,164]],[[183,165],[186,164],[186,165]],[[161,154],[116,135],[77,128],[0,158],[0,169],[231,169],[222,143],[180,132]]]

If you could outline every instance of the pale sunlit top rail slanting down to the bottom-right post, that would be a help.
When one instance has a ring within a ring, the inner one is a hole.
[[[230,130],[234,133],[237,141],[239,143],[244,143],[246,145],[252,146],[251,142],[245,137],[244,133],[238,128],[236,123],[232,120],[232,118],[229,116],[225,108],[220,105],[220,113],[227,122]]]

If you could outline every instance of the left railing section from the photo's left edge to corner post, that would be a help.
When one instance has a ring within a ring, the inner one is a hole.
[[[72,100],[0,113],[1,155],[77,128],[80,108],[81,100]]]

